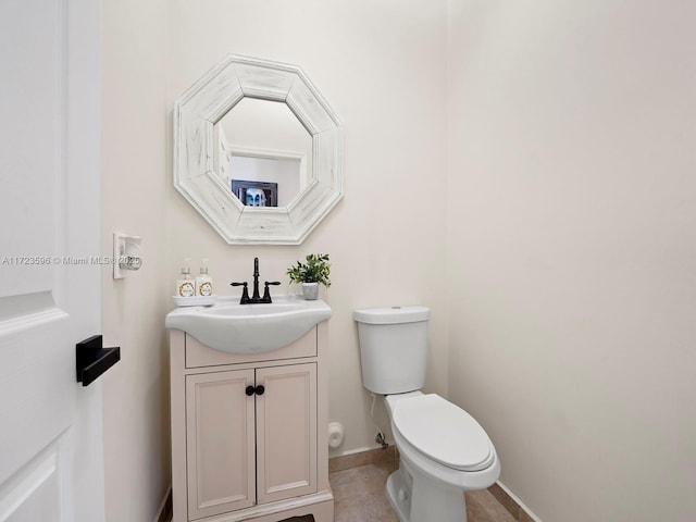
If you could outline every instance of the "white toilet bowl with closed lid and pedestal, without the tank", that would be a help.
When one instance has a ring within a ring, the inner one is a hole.
[[[401,522],[465,522],[464,492],[500,475],[493,443],[476,420],[438,395],[387,395],[399,469],[387,498]]]

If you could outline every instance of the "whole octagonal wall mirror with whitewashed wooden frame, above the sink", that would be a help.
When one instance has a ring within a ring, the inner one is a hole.
[[[229,55],[174,103],[174,186],[231,245],[298,245],[343,197],[343,129],[296,65]]]

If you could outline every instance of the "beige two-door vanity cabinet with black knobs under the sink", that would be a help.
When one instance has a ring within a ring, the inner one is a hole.
[[[240,356],[171,331],[173,522],[333,521],[326,340]]]

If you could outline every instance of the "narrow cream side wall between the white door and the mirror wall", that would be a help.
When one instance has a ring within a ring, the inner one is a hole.
[[[103,380],[108,522],[151,522],[171,485],[165,262],[170,182],[166,0],[102,0],[102,251],[112,233],[142,237],[142,269],[104,270],[104,346],[121,362]],[[175,275],[175,274],[174,274]]]

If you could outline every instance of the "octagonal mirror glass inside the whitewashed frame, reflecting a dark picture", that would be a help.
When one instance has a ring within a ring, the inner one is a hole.
[[[284,102],[245,97],[213,133],[214,172],[244,206],[287,207],[312,178],[312,137]]]

